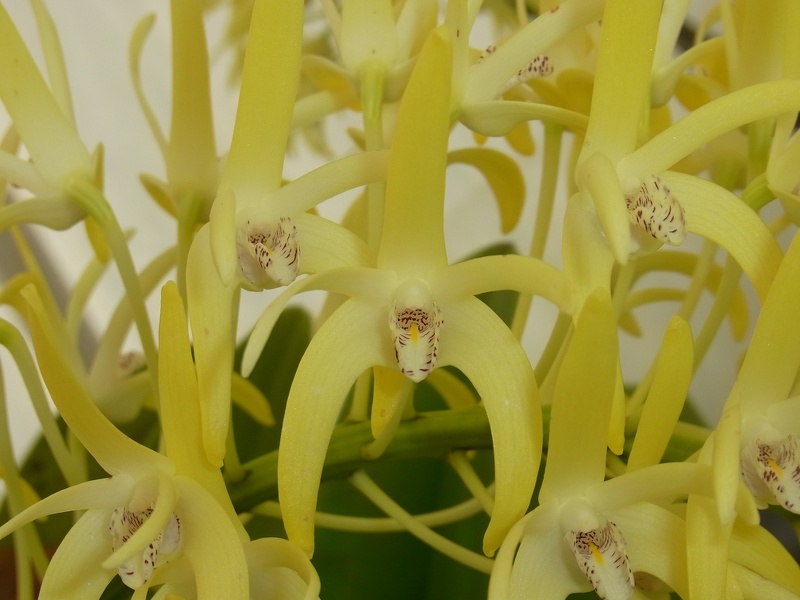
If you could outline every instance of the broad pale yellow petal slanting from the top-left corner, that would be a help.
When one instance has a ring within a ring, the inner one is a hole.
[[[92,159],[75,125],[58,106],[2,7],[0,57],[0,98],[44,180],[63,189],[72,174],[92,173]]]

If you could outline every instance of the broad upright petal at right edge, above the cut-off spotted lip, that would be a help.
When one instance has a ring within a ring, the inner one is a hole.
[[[780,264],[756,322],[737,386],[742,416],[788,398],[800,367],[800,236]]]

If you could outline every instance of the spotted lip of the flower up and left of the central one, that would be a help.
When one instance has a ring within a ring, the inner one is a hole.
[[[289,285],[299,273],[297,227],[290,217],[267,223],[246,221],[237,239],[237,250],[242,274],[253,285],[263,287],[269,280]]]

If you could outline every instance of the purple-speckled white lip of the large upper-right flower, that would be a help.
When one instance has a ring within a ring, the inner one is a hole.
[[[631,223],[665,244],[679,246],[686,238],[686,216],[672,191],[655,175],[625,196]]]

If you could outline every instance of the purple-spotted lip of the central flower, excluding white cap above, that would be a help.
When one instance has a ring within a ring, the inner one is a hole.
[[[415,382],[436,366],[442,315],[435,302],[426,307],[403,307],[395,302],[389,318],[394,356],[400,372]]]

